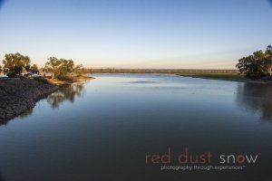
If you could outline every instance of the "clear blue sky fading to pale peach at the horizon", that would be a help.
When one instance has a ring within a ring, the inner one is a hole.
[[[0,60],[44,66],[235,69],[272,43],[269,0],[0,0]]]

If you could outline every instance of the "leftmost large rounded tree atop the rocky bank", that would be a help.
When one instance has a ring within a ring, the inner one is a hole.
[[[27,69],[30,65],[30,58],[17,53],[5,54],[4,72],[8,77],[20,77],[22,72]]]

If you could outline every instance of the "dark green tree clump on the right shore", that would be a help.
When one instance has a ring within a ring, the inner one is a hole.
[[[251,79],[260,79],[267,77],[272,79],[272,46],[267,46],[266,52],[257,51],[248,57],[238,60],[236,65],[241,73]]]

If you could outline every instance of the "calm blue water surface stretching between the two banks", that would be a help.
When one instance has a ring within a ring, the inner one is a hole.
[[[0,180],[272,180],[271,86],[159,74],[93,76],[2,123]],[[146,155],[169,147],[169,166],[181,166],[176,157],[185,148],[194,156],[211,152],[212,166],[228,165],[219,164],[222,154],[258,157],[238,171],[161,171],[163,164],[145,163]]]

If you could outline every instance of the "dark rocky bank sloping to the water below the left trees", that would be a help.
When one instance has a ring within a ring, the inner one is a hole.
[[[36,100],[58,88],[53,83],[25,78],[0,80],[0,121],[12,119],[33,108]]]

